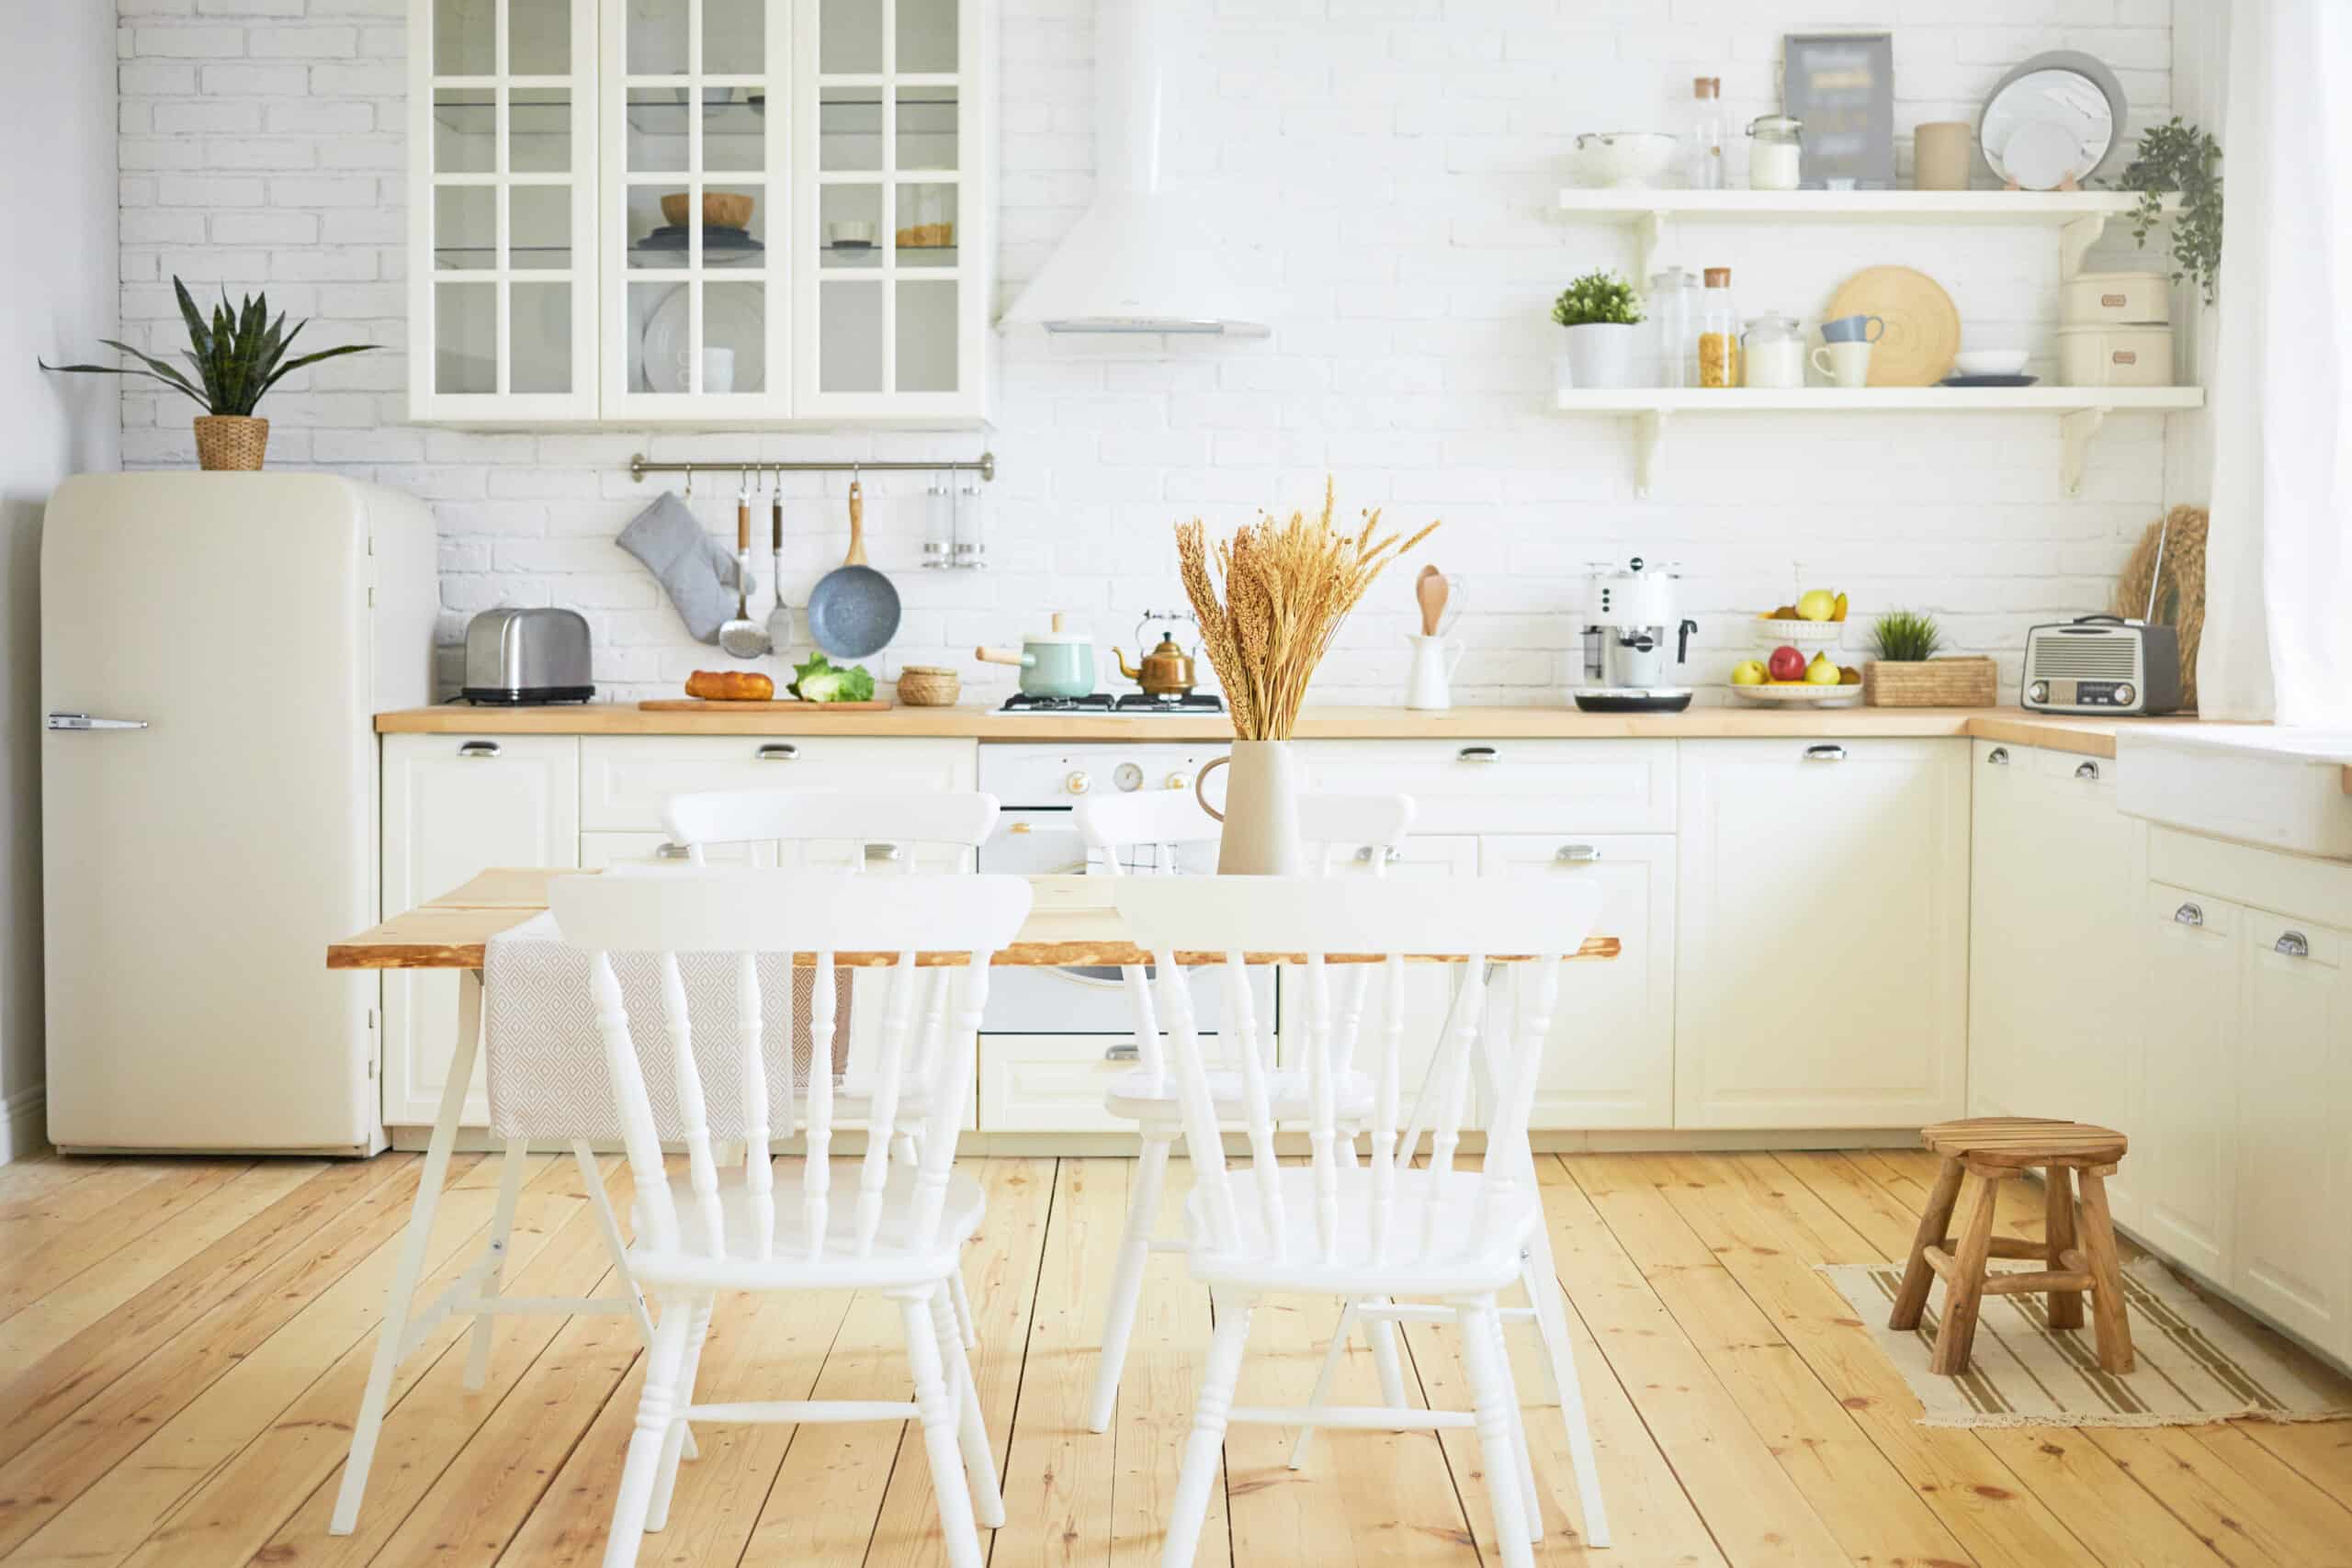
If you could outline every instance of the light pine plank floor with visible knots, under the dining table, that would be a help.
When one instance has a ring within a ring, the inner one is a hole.
[[[1907,1152],[1545,1157],[1552,1246],[1599,1439],[1616,1549],[1581,1544],[1566,1441],[1529,1406],[1543,1563],[1797,1568],[2126,1563],[2352,1566],[2352,1425],[2140,1432],[1931,1429],[1816,1262],[1898,1255],[1931,1166]],[[480,1392],[461,1324],[402,1366],[360,1533],[327,1535],[350,1413],[419,1161],[0,1166],[0,1563],[235,1568],[593,1563],[640,1354],[626,1319],[503,1319]],[[1209,1342],[1176,1255],[1145,1284],[1112,1429],[1084,1429],[1122,1159],[976,1159],[988,1225],[967,1255],[976,1363],[1004,1474],[993,1568],[1143,1568]],[[534,1161],[508,1258],[517,1295],[609,1284],[569,1159]],[[628,1171],[602,1180],[628,1204]],[[433,1239],[480,1248],[496,1166],[461,1157]],[[1183,1164],[1164,1215],[1176,1222]],[[2004,1187],[2002,1229],[2039,1197]],[[1305,1396],[1336,1305],[1258,1314],[1242,1403]],[[1454,1335],[1404,1335],[1409,1392],[1463,1406]],[[1512,1328],[1515,1378],[1545,1387]],[[1374,1399],[1357,1347],[1338,1401]],[[903,1399],[896,1309],[870,1295],[722,1302],[708,1399]],[[1202,1568],[1494,1561],[1468,1434],[1237,1427]],[[703,1429],[647,1563],[931,1568],[920,1434]]]

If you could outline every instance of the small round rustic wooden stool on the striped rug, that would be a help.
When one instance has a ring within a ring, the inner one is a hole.
[[[1936,1333],[1936,1356],[1929,1366],[1945,1378],[1969,1371],[1976,1342],[1976,1312],[1987,1295],[2046,1291],[2051,1328],[2082,1328],[2082,1293],[2091,1293],[2098,1331],[2098,1363],[2110,1373],[2131,1371],[2131,1324],[2124,1319],[2124,1269],[2114,1253],[2114,1220],[2107,1215],[2107,1178],[2129,1147],[2124,1135],[2082,1121],[2042,1121],[2032,1117],[1978,1117],[1973,1121],[1938,1121],[1919,1131],[1919,1143],[1943,1157],[1936,1190],[1919,1215],[1912,1237],[1910,1267],[1896,1295],[1889,1328],[1917,1328],[1926,1309],[1926,1291],[1943,1276],[1943,1328]],[[2039,1166],[2049,1175],[2049,1234],[2042,1241],[2016,1241],[1992,1234],[1992,1194],[1999,1182]],[[2082,1178],[2082,1220],[2074,1215],[2074,1178]],[[1957,1244],[1945,1227],[1966,1194]],[[2079,1244],[2077,1244],[2079,1237]],[[2039,1258],[2049,1267],[2016,1274],[1987,1274],[1990,1258]]]

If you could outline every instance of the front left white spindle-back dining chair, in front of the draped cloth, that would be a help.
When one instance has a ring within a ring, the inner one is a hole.
[[[1004,1502],[971,1366],[948,1307],[948,1281],[983,1213],[978,1182],[953,1171],[955,1133],[971,1093],[988,961],[1028,917],[1028,882],[680,867],[562,877],[550,884],[548,903],[564,940],[590,954],[597,1037],[637,1180],[637,1237],[628,1267],[661,1307],[604,1544],[607,1568],[635,1563],[644,1533],[668,1523],[687,1420],[804,1425],[910,1418],[922,1422],[948,1563],[978,1568],[976,1521],[1000,1526]],[[788,1100],[781,1126],[769,1126],[760,1025],[767,997],[757,959],[793,952],[816,954],[818,1039],[833,1023],[835,954],[896,954],[887,971],[884,1030],[863,1117],[866,1152],[840,1166],[830,1159],[837,1126],[833,1072],[811,1072],[807,1095]],[[659,1027],[633,1027],[616,954],[654,954]],[[694,1044],[680,954],[731,954],[736,1018],[727,1044]],[[967,954],[967,961],[927,969],[917,954]],[[953,992],[953,1001],[936,1006],[920,992]],[[701,1058],[715,1051],[736,1053],[743,1091],[731,1121],[746,1154],[741,1175],[724,1182],[713,1152],[713,1121],[720,1119],[706,1105],[701,1067]],[[654,1114],[649,1072],[670,1079],[673,1126]],[[889,1154],[910,1088],[922,1088],[929,1107],[915,1166]],[[771,1168],[771,1131],[807,1138],[809,1154],[797,1168],[781,1175]],[[666,1171],[663,1138],[684,1143],[684,1175]],[[882,1291],[898,1302],[913,1401],[694,1403],[694,1352],[720,1291],[844,1288]],[[811,1500],[811,1507],[818,1505]]]

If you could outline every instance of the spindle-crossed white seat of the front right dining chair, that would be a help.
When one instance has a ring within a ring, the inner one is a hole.
[[[1230,1253],[1209,1251],[1207,1192],[1192,1187],[1185,1199],[1185,1237],[1192,1274],[1218,1286],[1258,1291],[1303,1291],[1334,1295],[1482,1295],[1501,1291],[1519,1276],[1519,1253],[1526,1237],[1543,1225],[1543,1199],[1534,1185],[1522,1185],[1498,1201],[1479,1237],[1482,1182],[1472,1171],[1397,1171],[1390,1199],[1390,1262],[1371,1255],[1371,1168],[1338,1173],[1338,1244],[1331,1262],[1315,1234],[1315,1168],[1284,1166],[1277,1182],[1284,1246],[1275,1246],[1258,1204],[1256,1175],[1237,1166],[1228,1175],[1240,1246]],[[1432,1213],[1435,1225],[1432,1225]],[[1425,1237],[1437,1237],[1437,1251],[1423,1253]],[[1444,1248],[1458,1248],[1446,1253]]]

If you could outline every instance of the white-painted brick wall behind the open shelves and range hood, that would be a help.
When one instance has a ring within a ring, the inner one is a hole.
[[[266,287],[318,315],[320,346],[388,343],[287,381],[263,407],[270,463],[334,468],[433,503],[442,637],[492,604],[572,604],[597,630],[597,682],[668,691],[724,663],[684,637],[612,536],[652,498],[654,456],[969,456],[974,437],[470,435],[405,409],[405,0],[118,0],[122,320],[176,348],[169,277]],[[1091,188],[1091,7],[1002,0],[1002,280],[1018,289]],[[1966,14],[1969,26],[1955,26]],[[1143,609],[1181,602],[1169,524],[1256,505],[1341,503],[1392,522],[1444,517],[1423,559],[1470,578],[1463,701],[1552,701],[1576,649],[1583,567],[1677,559],[1700,621],[1693,675],[1750,656],[1745,614],[1809,585],[1856,614],[1936,611],[1962,649],[2004,656],[2030,623],[2103,609],[2129,538],[2164,503],[2164,421],[2117,416],[2086,494],[2058,487],[2049,416],[1691,418],[1670,430],[1658,496],[1632,496],[1621,421],[1545,411],[1548,301],[1590,266],[1630,266],[1604,228],[1545,212],[1581,129],[1665,125],[1693,73],[1726,113],[1776,106],[1780,33],[1891,28],[1898,120],[1973,118],[2018,59],[2107,59],[2136,120],[2171,96],[2171,0],[1216,0],[1178,99],[1178,179],[1218,176],[1275,277],[1272,339],[1183,346],[1002,341],[985,574],[917,571],[922,477],[875,477],[875,562],[906,625],[880,665],[969,663],[1070,609],[1127,644]],[[2133,132],[2138,125],[2133,127]],[[1933,273],[1976,341],[2049,353],[2056,242],[2034,228],[1722,228],[1679,259],[1729,263],[1743,310],[1816,315],[1867,263]],[[2103,254],[2133,266],[2129,240]],[[2042,367],[2046,369],[2046,364]],[[191,463],[188,404],[127,390],[125,461]],[[731,534],[731,482],[694,505]],[[842,484],[790,487],[786,595],[840,559]],[[1414,562],[1418,569],[1418,559]],[[764,564],[762,564],[764,571]],[[764,588],[764,583],[762,583]],[[1392,701],[1409,571],[1383,581],[1317,682],[1322,701]],[[1860,646],[1863,625],[1849,632]],[[1129,646],[1129,654],[1134,649]],[[454,665],[449,668],[454,679]]]

